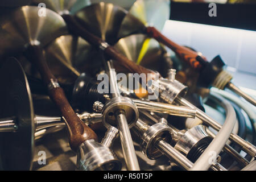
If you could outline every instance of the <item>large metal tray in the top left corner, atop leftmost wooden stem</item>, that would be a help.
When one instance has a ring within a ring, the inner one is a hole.
[[[0,57],[22,53],[28,44],[42,47],[67,34],[61,16],[46,9],[46,16],[38,15],[38,7],[22,6],[0,17]]]

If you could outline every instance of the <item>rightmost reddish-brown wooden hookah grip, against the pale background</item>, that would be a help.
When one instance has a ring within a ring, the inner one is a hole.
[[[177,54],[177,56],[180,57],[180,59],[188,63],[193,69],[196,69],[196,70],[201,69],[202,64],[197,60],[197,57],[199,56],[197,52],[172,42],[170,39],[164,36],[161,32],[156,30],[155,27],[147,27],[146,32],[148,36],[151,36],[152,38],[158,40],[158,42],[172,49],[172,51],[174,51]],[[207,61],[205,57],[201,56],[201,58]]]

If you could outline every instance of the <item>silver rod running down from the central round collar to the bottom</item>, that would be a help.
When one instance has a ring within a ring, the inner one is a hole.
[[[126,121],[125,113],[119,109],[115,112],[115,118],[118,121],[118,129],[122,144],[123,156],[129,171],[139,171],[139,163],[133,146],[129,126]]]

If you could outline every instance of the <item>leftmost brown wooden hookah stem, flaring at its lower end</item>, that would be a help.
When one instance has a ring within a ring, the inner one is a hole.
[[[40,46],[31,45],[27,47],[25,55],[28,60],[30,60],[31,63],[36,65],[38,68],[44,83],[48,86],[49,96],[59,107],[61,114],[63,114],[65,123],[68,127],[69,144],[72,150],[76,151],[79,146],[88,139],[97,140],[97,135],[94,133],[94,131],[86,126],[72,109],[67,98],[65,97],[63,89],[52,84],[52,82],[57,80],[48,68],[43,49]]]

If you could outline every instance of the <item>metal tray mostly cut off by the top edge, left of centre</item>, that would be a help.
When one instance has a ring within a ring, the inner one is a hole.
[[[89,0],[32,0],[34,5],[44,3],[50,10],[58,14],[73,14],[82,9],[82,7],[89,6]]]

